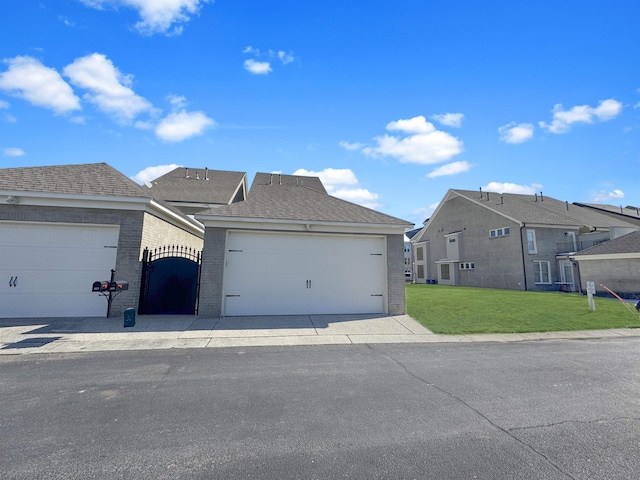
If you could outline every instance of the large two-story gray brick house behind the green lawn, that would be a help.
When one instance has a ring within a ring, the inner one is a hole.
[[[637,229],[542,194],[451,189],[412,240],[415,281],[575,291],[571,255]]]

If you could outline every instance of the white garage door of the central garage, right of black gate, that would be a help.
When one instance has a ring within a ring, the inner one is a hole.
[[[229,232],[224,314],[384,313],[385,239]]]

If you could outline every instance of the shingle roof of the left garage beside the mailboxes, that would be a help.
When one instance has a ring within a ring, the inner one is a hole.
[[[149,198],[140,185],[106,163],[3,168],[0,190]]]

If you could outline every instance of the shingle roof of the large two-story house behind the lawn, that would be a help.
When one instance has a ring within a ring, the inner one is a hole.
[[[528,224],[563,225],[590,228],[633,227],[621,218],[614,218],[568,202],[542,195],[452,190],[469,200]]]

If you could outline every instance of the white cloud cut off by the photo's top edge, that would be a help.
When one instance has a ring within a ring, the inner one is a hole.
[[[200,12],[210,0],[80,0],[88,7],[102,10],[105,5],[126,6],[138,11],[141,20],[135,24],[143,35],[164,33],[180,35],[183,24]],[[173,28],[172,28],[173,27]]]

